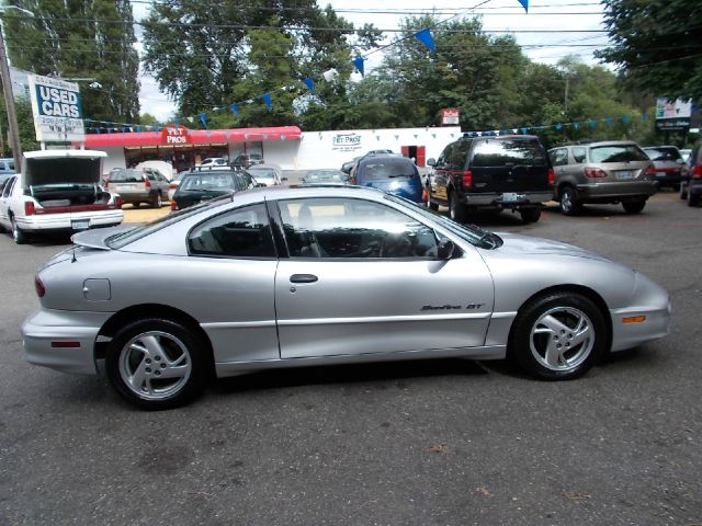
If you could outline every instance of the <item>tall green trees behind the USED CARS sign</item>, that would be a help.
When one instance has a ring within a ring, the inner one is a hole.
[[[12,0],[34,18],[3,15],[13,66],[81,83],[83,115],[134,123],[139,115],[139,59],[129,0]]]

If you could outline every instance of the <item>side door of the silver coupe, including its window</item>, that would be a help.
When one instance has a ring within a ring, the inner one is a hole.
[[[430,226],[373,201],[279,209],[290,251],[275,278],[282,358],[484,344],[494,293],[476,251],[439,261]]]

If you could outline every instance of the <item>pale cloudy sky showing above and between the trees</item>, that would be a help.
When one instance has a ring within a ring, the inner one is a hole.
[[[566,55],[577,55],[587,64],[597,64],[592,53],[608,45],[599,0],[530,0],[529,13],[524,12],[518,0],[471,0],[466,3],[455,0],[318,0],[317,3],[320,7],[330,3],[339,15],[353,22],[355,27],[373,23],[381,30],[397,30],[404,18],[418,16],[432,9],[439,13],[440,20],[456,14],[479,14],[485,31],[513,34],[523,53],[536,62],[555,65]],[[146,2],[135,1],[133,7],[135,20],[146,16]],[[140,27],[136,30],[139,38]],[[393,34],[388,33],[387,36]],[[141,52],[139,44],[137,50]],[[373,68],[374,60],[381,57],[381,53],[369,56],[366,72]],[[159,121],[168,119],[174,111],[174,104],[159,92],[152,77],[141,75],[140,82],[141,113],[148,112]]]

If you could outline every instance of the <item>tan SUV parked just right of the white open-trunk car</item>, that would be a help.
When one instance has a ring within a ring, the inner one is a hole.
[[[104,186],[117,192],[122,201],[134,208],[141,203],[160,208],[168,198],[169,181],[155,168],[125,168],[111,171]]]

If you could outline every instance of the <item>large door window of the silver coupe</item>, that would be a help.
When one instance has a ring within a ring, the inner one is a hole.
[[[389,206],[353,198],[280,202],[292,258],[433,259],[437,236]]]

